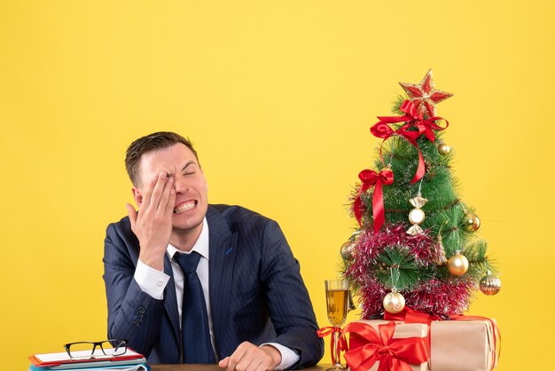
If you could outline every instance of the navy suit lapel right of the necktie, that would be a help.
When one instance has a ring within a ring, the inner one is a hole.
[[[216,348],[223,338],[227,309],[230,303],[231,280],[237,250],[237,233],[232,233],[222,214],[212,207],[207,211],[209,239],[209,289],[212,324]]]

